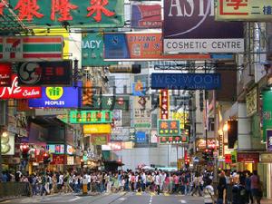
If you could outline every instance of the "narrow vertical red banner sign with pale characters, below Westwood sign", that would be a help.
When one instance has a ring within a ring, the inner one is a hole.
[[[169,119],[170,94],[167,89],[160,90],[160,119]]]

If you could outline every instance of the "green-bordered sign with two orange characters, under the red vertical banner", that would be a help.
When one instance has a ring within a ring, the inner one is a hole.
[[[158,121],[159,136],[180,136],[180,121],[159,120]]]

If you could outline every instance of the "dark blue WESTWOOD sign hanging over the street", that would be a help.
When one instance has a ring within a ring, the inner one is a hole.
[[[152,89],[215,90],[221,87],[219,73],[152,73]]]

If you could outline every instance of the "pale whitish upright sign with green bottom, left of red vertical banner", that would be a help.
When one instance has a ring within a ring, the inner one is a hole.
[[[133,97],[133,118],[137,130],[151,128],[151,97]]]

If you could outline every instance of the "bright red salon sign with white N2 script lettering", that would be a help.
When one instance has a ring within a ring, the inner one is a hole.
[[[34,99],[41,96],[41,87],[20,87],[16,74],[12,75],[11,87],[0,87],[0,99]]]

